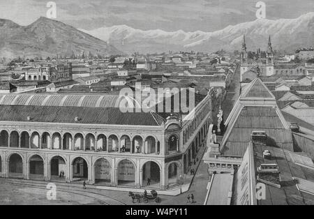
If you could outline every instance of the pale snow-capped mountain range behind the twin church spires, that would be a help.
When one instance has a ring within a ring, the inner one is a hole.
[[[82,30],[85,31],[85,30]],[[249,50],[267,49],[271,36],[274,50],[294,52],[299,47],[311,47],[314,43],[314,12],[296,19],[257,19],[214,32],[167,32],[160,29],[143,31],[126,25],[102,27],[85,31],[119,50],[133,53],[172,51],[215,52],[241,50],[243,35]]]

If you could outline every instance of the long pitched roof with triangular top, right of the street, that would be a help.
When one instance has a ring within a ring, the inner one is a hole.
[[[225,156],[244,156],[254,130],[265,131],[269,145],[293,149],[292,134],[276,105],[276,98],[259,78],[243,89],[225,126],[220,150]]]

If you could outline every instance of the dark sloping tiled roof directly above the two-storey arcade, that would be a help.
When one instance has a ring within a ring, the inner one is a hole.
[[[119,108],[0,105],[0,121],[160,126],[164,120],[156,113],[121,112]]]

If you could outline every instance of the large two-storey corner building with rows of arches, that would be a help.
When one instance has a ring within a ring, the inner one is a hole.
[[[211,94],[179,116],[121,112],[119,98],[0,95],[0,176],[134,188],[151,179],[150,188],[178,186],[207,135]]]

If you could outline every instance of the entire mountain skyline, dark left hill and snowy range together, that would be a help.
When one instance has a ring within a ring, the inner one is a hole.
[[[213,32],[143,31],[126,25],[86,31],[45,17],[40,17],[28,26],[0,19],[0,57],[70,56],[82,52],[109,56],[169,50],[233,51],[241,50],[244,34],[248,50],[266,50],[269,35],[274,50],[294,52],[299,47],[313,47],[314,12],[296,19],[257,19]]]

